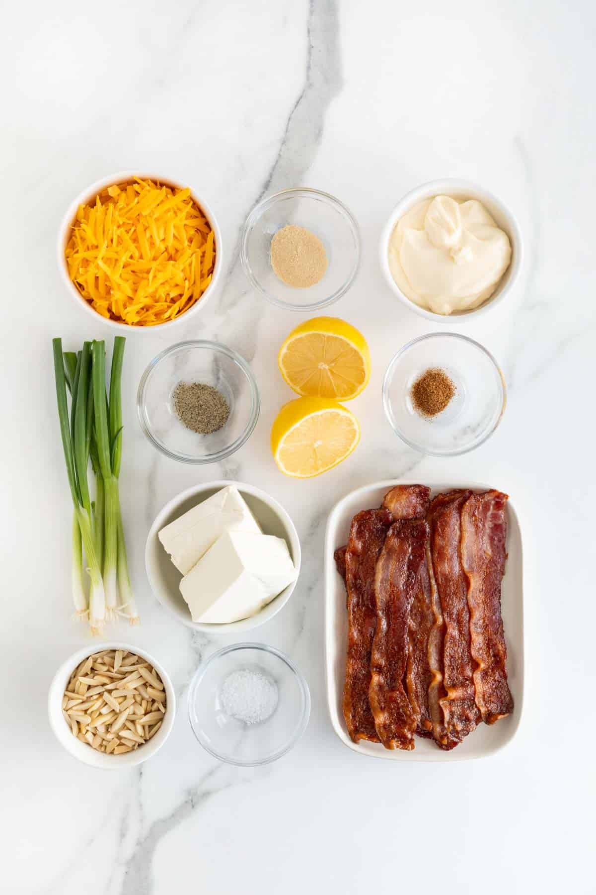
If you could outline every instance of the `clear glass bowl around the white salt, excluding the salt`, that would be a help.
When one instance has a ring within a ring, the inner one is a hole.
[[[261,723],[236,720],[222,708],[223,682],[240,669],[258,671],[277,685],[277,706]],[[305,678],[288,656],[273,646],[225,646],[207,659],[190,682],[190,726],[201,746],[221,762],[253,767],[276,761],[298,742],[309,715]]]

